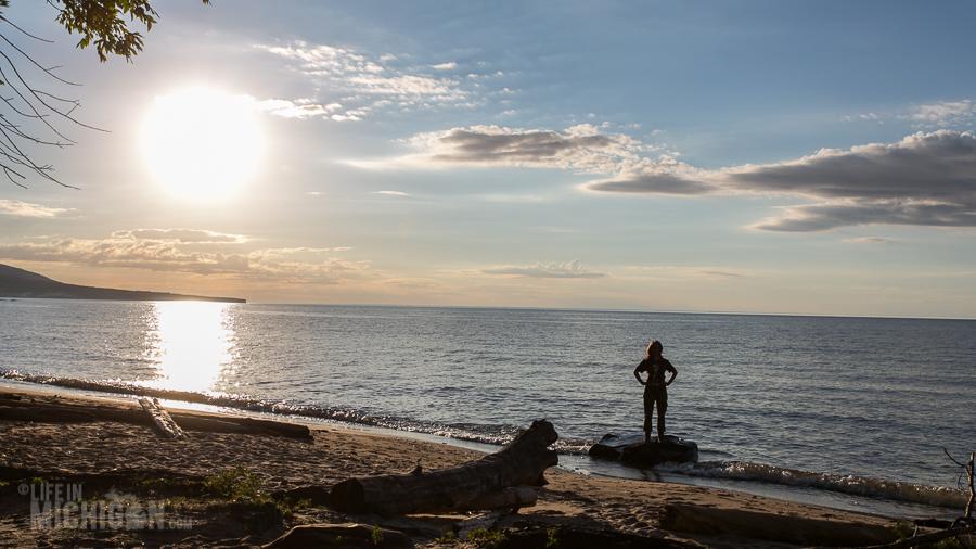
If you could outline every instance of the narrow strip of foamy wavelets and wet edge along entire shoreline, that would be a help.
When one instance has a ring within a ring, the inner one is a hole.
[[[239,412],[258,414],[265,419],[278,421],[298,421],[309,425],[338,426],[341,429],[368,430],[371,433],[387,436],[403,436],[427,442],[440,442],[452,446],[474,449],[481,452],[496,451],[511,439],[517,430],[506,433],[508,436],[479,437],[459,434],[459,429],[451,425],[424,425],[416,422],[390,420],[389,418],[371,418],[348,410],[292,406],[270,403],[234,395],[206,395],[192,392],[157,390],[144,387],[131,382],[94,382],[70,378],[22,374],[0,371],[0,382],[10,380],[26,385],[38,385],[65,394],[72,392],[90,392],[107,398],[117,395],[119,399],[130,396],[151,396],[169,400],[171,406],[209,413]],[[3,385],[0,383],[0,391]],[[190,405],[190,406],[182,406]],[[647,478],[646,474],[638,476],[627,468],[616,463],[606,463],[586,456],[587,446],[578,449],[580,442],[556,443],[556,449],[564,455],[563,461],[570,456],[577,460],[586,460],[582,467],[569,467],[580,474],[590,476],[607,476],[621,480],[642,480],[652,482],[669,482],[690,486],[709,487],[742,491],[748,495],[776,497],[801,505],[821,505],[837,510],[874,512],[877,514],[898,514],[911,518],[939,516],[947,518],[956,509],[964,509],[968,494],[964,490],[898,483],[883,478],[864,478],[856,476],[831,475],[808,471],[782,469],[771,465],[746,463],[739,461],[706,461],[685,464],[664,464],[652,470],[640,470],[657,478]],[[570,459],[572,461],[572,459]],[[577,463],[578,464],[578,463]],[[811,494],[810,490],[824,493]],[[836,494],[836,496],[830,496]],[[906,503],[906,505],[901,505]]]

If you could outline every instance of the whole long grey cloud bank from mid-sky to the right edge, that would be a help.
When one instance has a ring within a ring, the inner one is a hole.
[[[896,143],[822,149],[779,164],[706,170],[667,145],[647,145],[589,124],[562,131],[472,126],[420,133],[414,164],[524,166],[607,173],[583,189],[630,194],[768,195],[813,201],[782,206],[749,226],[778,232],[846,226],[976,227],[976,137],[916,132]],[[647,153],[657,153],[647,157]]]

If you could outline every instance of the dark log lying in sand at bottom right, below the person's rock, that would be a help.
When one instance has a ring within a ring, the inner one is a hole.
[[[668,505],[658,513],[663,529],[717,536],[732,534],[750,539],[820,547],[863,547],[895,541],[887,527],[804,519],[772,513]]]

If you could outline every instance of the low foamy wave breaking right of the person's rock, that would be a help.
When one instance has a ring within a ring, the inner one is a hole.
[[[968,493],[953,488],[899,483],[885,481],[883,478],[811,473],[809,471],[781,469],[770,465],[744,463],[741,461],[705,461],[681,464],[665,463],[655,467],[654,470],[688,476],[810,487],[855,496],[894,499],[954,509],[964,509],[969,497]]]

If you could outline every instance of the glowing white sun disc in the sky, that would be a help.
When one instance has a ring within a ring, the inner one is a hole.
[[[142,139],[153,175],[180,196],[230,195],[254,175],[261,150],[251,103],[207,88],[156,98]]]

